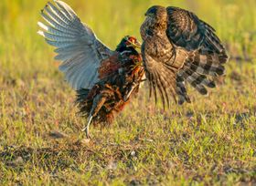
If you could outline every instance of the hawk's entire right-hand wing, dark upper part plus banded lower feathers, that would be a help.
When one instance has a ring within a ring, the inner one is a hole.
[[[197,15],[177,7],[167,7],[168,27],[166,35],[176,47],[187,50],[189,57],[176,74],[176,93],[179,103],[190,102],[185,81],[202,94],[207,88],[215,88],[211,77],[225,73],[224,63],[228,60],[225,47],[215,29],[200,20]]]

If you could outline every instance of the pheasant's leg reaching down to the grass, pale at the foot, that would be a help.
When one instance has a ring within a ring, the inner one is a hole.
[[[88,139],[91,139],[91,136],[90,136],[91,120],[93,119],[93,117],[95,117],[98,114],[98,112],[100,111],[101,107],[104,105],[105,101],[106,101],[106,97],[102,96],[101,94],[97,95],[93,99],[90,115],[89,115],[89,117],[87,119],[88,120],[87,121],[87,125],[84,127],[84,129],[82,129],[82,131],[85,131],[86,138],[88,138]]]

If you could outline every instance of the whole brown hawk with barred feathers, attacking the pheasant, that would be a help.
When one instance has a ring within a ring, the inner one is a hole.
[[[215,29],[197,15],[178,8],[154,5],[141,26],[142,56],[150,95],[157,90],[163,105],[170,97],[190,102],[184,82],[202,94],[215,88],[213,78],[224,74],[228,60]]]

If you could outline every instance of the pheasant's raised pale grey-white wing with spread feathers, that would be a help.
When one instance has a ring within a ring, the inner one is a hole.
[[[98,67],[102,59],[113,51],[104,46],[94,35],[91,28],[80,22],[76,13],[62,1],[56,5],[48,4],[41,11],[48,24],[38,22],[42,30],[37,33],[45,37],[46,42],[57,47],[57,60],[63,63],[59,70],[64,72],[66,80],[75,90],[92,88],[99,81]]]

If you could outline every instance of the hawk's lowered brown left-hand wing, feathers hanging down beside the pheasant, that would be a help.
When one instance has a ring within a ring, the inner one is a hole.
[[[183,84],[180,85],[180,89],[176,88],[176,85],[179,85],[176,82],[176,73],[183,67],[189,56],[183,48],[176,48],[176,58],[165,57],[168,60],[159,61],[158,57],[155,57],[154,52],[152,52],[154,51],[152,43],[154,41],[147,38],[144,40],[142,47],[145,75],[149,80],[150,97],[153,94],[156,101],[158,93],[165,108],[165,105],[169,107],[170,98],[174,98],[176,101],[177,91],[180,92],[179,95],[186,97],[186,88],[181,87]]]

